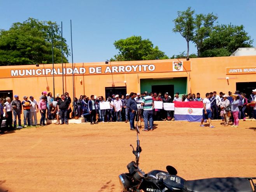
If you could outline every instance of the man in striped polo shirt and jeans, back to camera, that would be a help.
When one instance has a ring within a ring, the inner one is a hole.
[[[144,130],[142,131],[153,131],[153,108],[154,108],[154,101],[151,96],[145,91],[145,97],[143,97],[141,101],[141,105],[143,106],[143,116],[144,116]],[[148,125],[149,121],[149,125]]]

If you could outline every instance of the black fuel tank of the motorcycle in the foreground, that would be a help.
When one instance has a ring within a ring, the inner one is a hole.
[[[158,181],[158,184],[157,184],[158,187],[160,187],[161,182],[163,182],[165,185],[170,187],[173,191],[185,191],[186,180],[184,180],[183,178],[177,175],[170,175],[166,171],[152,170],[149,173],[147,173],[146,177],[148,178],[147,180]],[[151,185],[150,182],[147,182],[147,183],[149,186],[147,187],[146,191],[154,191],[150,189],[150,185]],[[162,187],[163,186],[164,185],[162,185]],[[154,185],[152,185],[151,187],[154,187]],[[159,189],[158,187],[156,189]],[[168,190],[166,190],[166,192],[168,192]]]

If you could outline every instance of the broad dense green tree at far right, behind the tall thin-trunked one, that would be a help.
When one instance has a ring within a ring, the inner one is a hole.
[[[217,25],[203,41],[201,57],[230,56],[239,47],[252,47],[251,36],[244,26]]]

